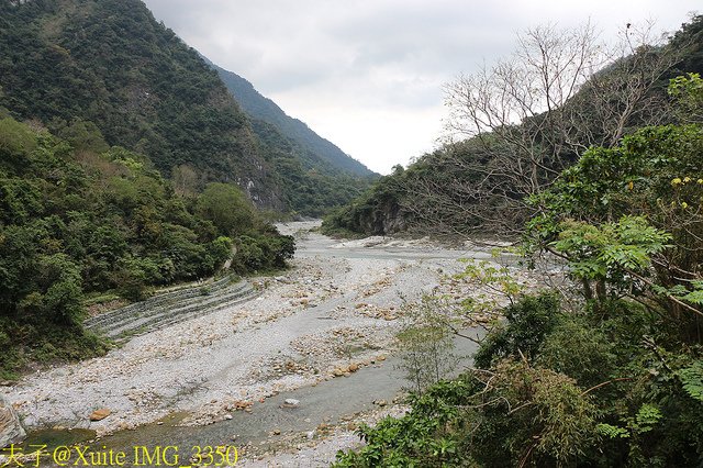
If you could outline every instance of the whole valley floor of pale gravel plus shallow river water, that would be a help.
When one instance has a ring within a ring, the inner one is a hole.
[[[258,294],[248,301],[205,309],[104,357],[31,375],[9,388],[25,427],[115,434],[100,439],[108,445],[164,445],[174,437],[183,445],[220,445],[237,435],[237,445],[293,452],[299,434],[322,427],[323,436],[305,437],[300,449],[357,444],[348,430],[355,420],[402,411],[391,402],[406,385],[392,357],[403,304],[433,290],[464,297],[466,286],[448,276],[461,270],[457,259],[490,253],[426,239],[338,242],[311,232],[317,224],[279,225],[297,238],[293,268],[249,280]],[[464,355],[475,348],[467,339],[458,343]],[[300,406],[280,409],[288,398]],[[110,415],[91,422],[98,409]],[[341,417],[344,430],[333,430]],[[249,450],[265,453],[255,448]]]

